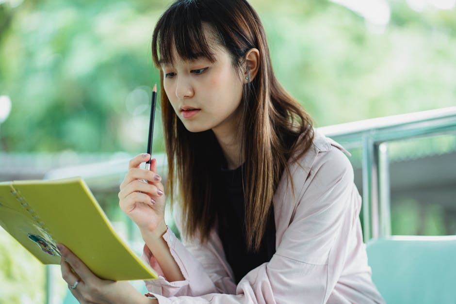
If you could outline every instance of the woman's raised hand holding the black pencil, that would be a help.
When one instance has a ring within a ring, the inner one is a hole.
[[[157,160],[151,160],[150,170],[140,168],[140,164],[150,158],[149,154],[140,154],[130,160],[128,173],[120,184],[119,206],[141,232],[153,232],[161,237],[166,231],[166,199],[162,178],[156,173]]]

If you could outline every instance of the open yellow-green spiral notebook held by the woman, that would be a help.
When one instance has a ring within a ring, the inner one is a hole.
[[[0,183],[0,225],[43,264],[60,264],[62,243],[100,278],[157,278],[115,233],[81,178]]]

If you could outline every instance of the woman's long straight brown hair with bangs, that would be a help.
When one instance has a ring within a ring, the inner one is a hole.
[[[183,60],[204,56],[214,62],[203,23],[210,26],[218,43],[231,55],[238,72],[246,68],[244,56],[248,50],[260,51],[258,73],[244,85],[241,101],[246,243],[248,248],[258,250],[284,170],[291,178],[287,161],[300,158],[311,145],[312,122],[278,83],[260,18],[245,0],[175,1],[153,32],[156,66],[173,63],[172,47]],[[163,88],[163,71],[160,75]],[[179,190],[186,237],[198,235],[205,241],[217,219],[214,177],[220,170],[220,147],[212,130],[188,131],[163,91],[161,105],[169,170],[166,190],[172,199],[176,188]],[[300,140],[295,140],[300,135]]]

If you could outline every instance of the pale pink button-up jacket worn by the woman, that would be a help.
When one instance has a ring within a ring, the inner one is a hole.
[[[290,163],[296,199],[284,174],[274,195],[277,251],[237,286],[215,230],[201,244],[181,242],[168,229],[163,238],[185,280],[168,282],[145,246],[143,258],[161,274],[146,281],[147,289],[161,304],[384,303],[371,280],[358,218],[361,197],[342,151],[315,132],[306,155]]]

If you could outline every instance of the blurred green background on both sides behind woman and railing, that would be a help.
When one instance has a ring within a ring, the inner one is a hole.
[[[0,0],[0,171],[16,160],[30,179],[65,162],[144,152],[159,81],[150,40],[169,3]],[[456,0],[250,3],[278,79],[317,127],[456,105]],[[155,131],[163,153],[163,130]],[[391,156],[455,150],[453,134],[396,143]],[[110,219],[125,220],[114,189],[95,194]],[[432,203],[396,201],[393,232],[456,234],[454,218],[443,221],[444,207]],[[0,228],[0,303],[44,303],[44,282],[44,267]]]

